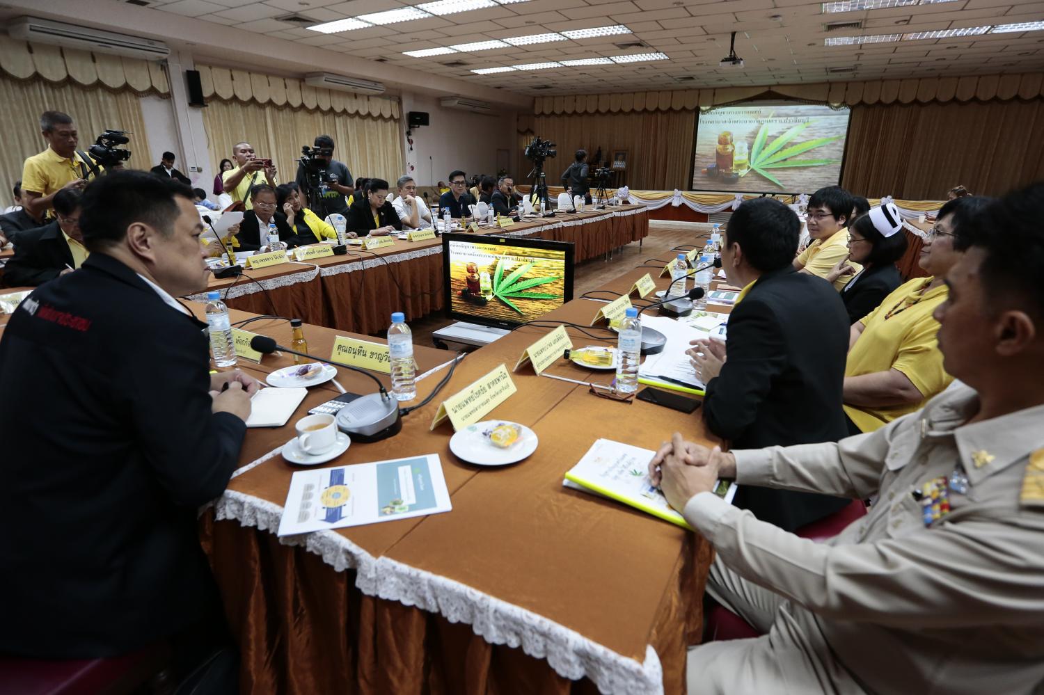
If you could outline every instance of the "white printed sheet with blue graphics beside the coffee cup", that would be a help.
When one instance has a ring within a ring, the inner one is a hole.
[[[424,517],[452,508],[438,454],[298,471],[290,478],[279,535]]]

